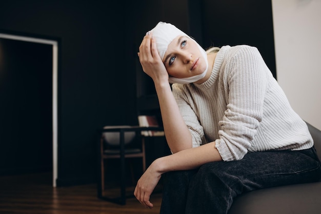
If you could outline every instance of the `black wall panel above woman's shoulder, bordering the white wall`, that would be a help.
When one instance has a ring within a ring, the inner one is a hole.
[[[203,0],[201,4],[204,48],[255,46],[276,78],[271,1]]]

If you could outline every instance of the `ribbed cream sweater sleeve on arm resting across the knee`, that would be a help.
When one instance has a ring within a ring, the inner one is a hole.
[[[250,46],[238,46],[227,57],[220,85],[228,104],[215,143],[223,160],[231,161],[248,152],[262,121],[267,66],[258,50]]]

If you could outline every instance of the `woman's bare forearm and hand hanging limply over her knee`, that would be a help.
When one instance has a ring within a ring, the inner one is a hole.
[[[138,180],[134,195],[146,208],[152,208],[150,195],[163,173],[175,170],[189,170],[205,163],[222,161],[215,142],[190,148],[156,159]]]

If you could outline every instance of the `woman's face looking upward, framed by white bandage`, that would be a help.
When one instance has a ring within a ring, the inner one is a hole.
[[[201,74],[206,69],[206,61],[194,40],[177,36],[167,48],[163,63],[170,76],[176,78]]]

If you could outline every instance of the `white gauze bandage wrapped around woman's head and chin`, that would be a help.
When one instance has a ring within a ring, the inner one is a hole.
[[[202,79],[207,72],[208,69],[208,60],[207,60],[207,53],[206,51],[200,47],[200,45],[193,40],[190,36],[188,36],[183,31],[176,28],[174,25],[165,23],[165,22],[159,22],[152,30],[152,35],[156,40],[157,45],[157,51],[159,53],[160,59],[163,60],[165,53],[167,51],[168,45],[176,38],[177,36],[186,36],[190,38],[192,41],[194,41],[197,44],[197,47],[199,48],[200,53],[202,53],[202,56],[206,62],[206,69],[203,71],[203,73],[186,77],[186,78],[176,78],[173,76],[169,76],[169,82],[170,83],[180,83],[180,84],[188,84],[188,83],[194,83],[200,79]]]

